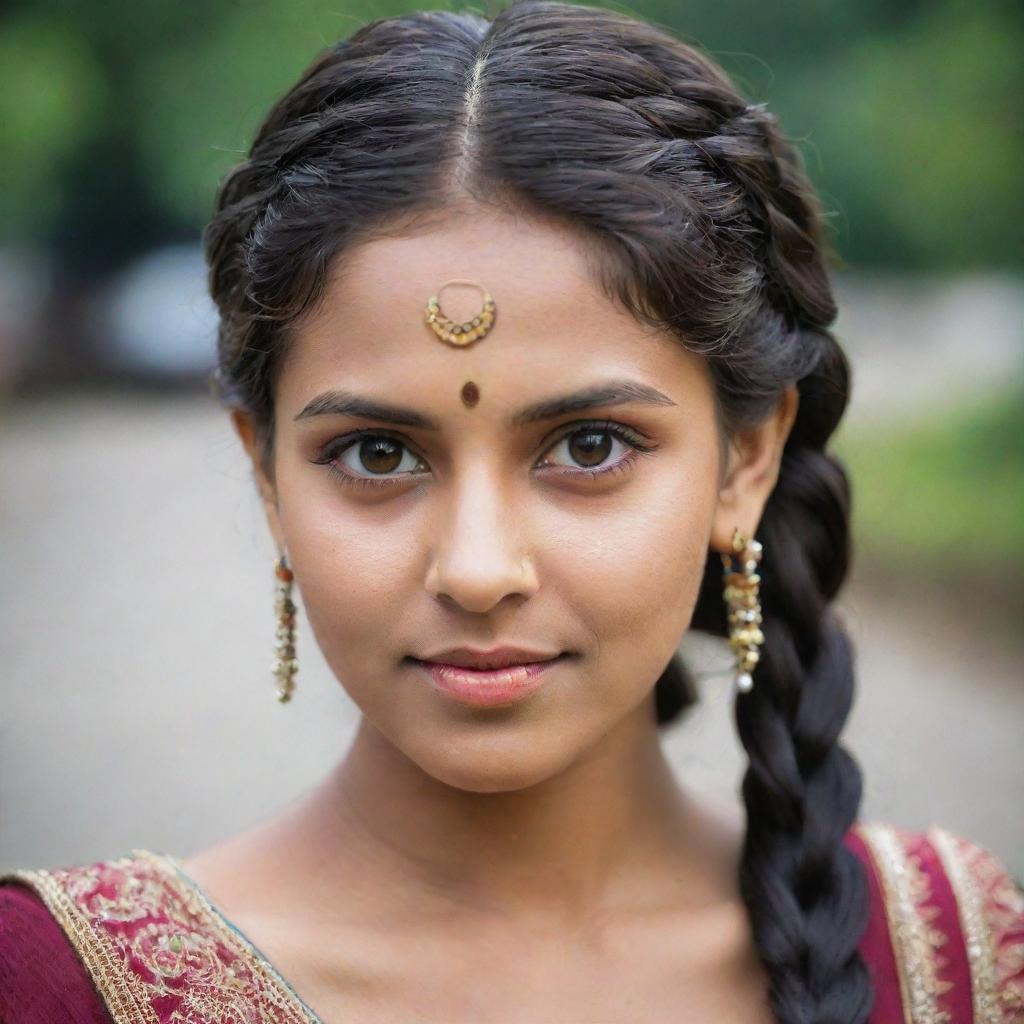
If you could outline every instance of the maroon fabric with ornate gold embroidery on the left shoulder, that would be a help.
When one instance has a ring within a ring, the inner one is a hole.
[[[0,1021],[3,1024],[111,1024],[111,1021],[273,1020],[299,1024],[310,1019],[272,966],[209,902],[177,858],[136,850],[130,856],[68,868],[24,870],[0,877],[0,893],[11,909],[31,904],[51,943],[59,941],[78,973],[91,986],[93,1016],[72,1016],[80,996],[50,1001],[40,1013],[32,1001],[33,971],[47,965],[45,943],[18,934],[11,921],[9,969],[0,967]],[[0,932],[3,929],[0,928]],[[5,955],[0,949],[0,959]],[[34,961],[35,967],[26,966]],[[6,986],[6,992],[4,989]],[[7,992],[17,1013],[4,1011]],[[54,996],[58,999],[60,996]],[[84,997],[82,997],[84,998]],[[28,1009],[23,1009],[28,1008]],[[59,1009],[54,1009],[59,1008]]]

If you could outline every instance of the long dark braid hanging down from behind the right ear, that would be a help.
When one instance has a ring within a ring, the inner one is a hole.
[[[856,952],[865,880],[843,845],[861,798],[857,764],[838,743],[853,657],[820,589],[845,552],[826,550],[816,563],[806,540],[823,517],[845,524],[845,479],[828,456],[809,446],[786,453],[759,530],[763,658],[753,690],[735,703],[750,757],[740,891],[772,971],[779,1019],[808,1024],[866,1020],[871,995]]]

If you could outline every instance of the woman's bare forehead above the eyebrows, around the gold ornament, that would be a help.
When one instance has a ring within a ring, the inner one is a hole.
[[[437,295],[453,319],[480,309],[490,293],[489,333],[458,348],[425,323]],[[578,236],[558,225],[506,214],[436,222],[415,233],[378,238],[343,255],[313,315],[296,333],[279,400],[294,415],[324,388],[421,399],[467,379],[483,401],[520,404],[561,385],[624,373],[656,381],[699,373],[678,340],[639,324],[604,296]],[[482,406],[482,402],[481,402]]]

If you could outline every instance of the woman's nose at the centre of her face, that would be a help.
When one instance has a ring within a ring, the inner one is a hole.
[[[525,523],[490,474],[467,474],[437,510],[427,590],[467,611],[489,611],[509,594],[529,597],[539,582],[522,550]]]

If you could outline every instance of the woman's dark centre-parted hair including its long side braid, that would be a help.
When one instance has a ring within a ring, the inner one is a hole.
[[[597,7],[513,0],[489,20],[368,23],[313,61],[222,182],[204,240],[216,390],[252,416],[272,478],[275,375],[329,264],[375,232],[482,203],[583,237],[609,299],[708,360],[724,433],[798,387],[758,529],[766,641],[735,702],[750,758],[739,884],[780,1024],[861,1024],[867,885],[844,844],[861,775],[838,743],[853,654],[830,609],[850,495],[825,451],[849,365],[828,330],[820,206],[763,105],[668,32]],[[727,634],[713,553],[691,625]],[[695,700],[677,655],[655,685],[658,725]]]

